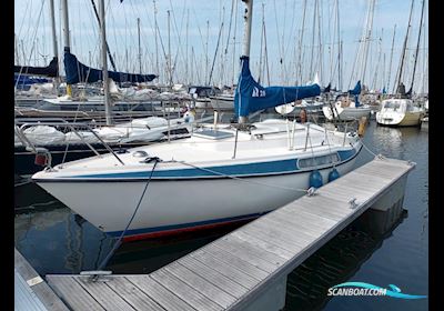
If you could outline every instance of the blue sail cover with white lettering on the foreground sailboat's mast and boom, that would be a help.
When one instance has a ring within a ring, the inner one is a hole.
[[[249,57],[241,57],[242,71],[234,96],[236,117],[248,117],[249,113],[290,103],[299,99],[316,97],[321,93],[317,84],[306,87],[269,87],[259,84],[250,72]]]

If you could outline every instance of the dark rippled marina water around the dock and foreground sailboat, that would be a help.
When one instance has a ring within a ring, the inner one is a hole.
[[[376,154],[416,162],[407,179],[405,211],[387,224],[387,215],[369,210],[305,260],[289,274],[285,310],[427,310],[427,299],[326,294],[329,288],[350,281],[428,293],[428,132],[372,121],[363,141]],[[373,157],[363,149],[356,165]],[[107,270],[150,273],[234,228],[125,243]],[[33,183],[16,187],[14,231],[17,249],[41,275],[94,270],[114,243]]]

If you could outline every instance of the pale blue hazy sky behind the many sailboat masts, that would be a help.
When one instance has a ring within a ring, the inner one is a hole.
[[[144,73],[159,74],[159,82],[167,82],[170,72],[174,83],[210,82],[215,86],[231,86],[236,82],[244,29],[245,6],[241,0],[157,0],[155,2],[105,0],[104,2],[107,40],[117,70],[139,72],[141,67]],[[313,80],[317,73],[321,84],[326,86],[332,82],[334,87],[341,86],[344,90],[353,88],[359,79],[371,89],[381,90],[383,87],[392,89],[400,66],[412,2],[375,0],[373,27],[367,41],[369,52],[364,62],[364,44],[361,43],[360,49],[360,39],[366,26],[371,2],[372,0],[254,0],[250,56],[253,77],[260,79],[264,86],[294,86]],[[95,3],[98,6],[98,0]],[[340,44],[337,44],[335,18],[336,3],[339,3],[342,41],[341,61],[337,60]],[[422,30],[416,64],[414,84],[416,91],[428,89],[427,3],[428,1],[425,2],[424,13],[426,27]],[[14,0],[17,64],[44,66],[52,58],[49,6],[49,0]],[[58,53],[61,56],[64,46],[61,0],[54,0],[54,6]],[[422,0],[414,0],[405,58],[405,77],[403,77],[407,86],[413,74],[421,6]],[[81,62],[100,68],[99,27],[91,0],[68,0],[68,7],[72,53]],[[168,12],[170,12],[170,23]],[[263,32],[265,37],[262,36]],[[168,61],[170,54],[171,62]],[[171,71],[168,68],[171,68]]]

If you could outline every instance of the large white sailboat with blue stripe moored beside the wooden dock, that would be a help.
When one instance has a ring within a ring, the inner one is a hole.
[[[362,149],[355,132],[284,120],[245,124],[249,113],[316,96],[320,87],[254,81],[252,0],[244,2],[239,124],[209,124],[181,141],[78,160],[32,179],[103,232],[133,240],[256,218],[350,172]]]

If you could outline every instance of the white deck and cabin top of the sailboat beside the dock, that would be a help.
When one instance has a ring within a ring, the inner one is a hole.
[[[291,128],[292,124],[290,123]],[[275,160],[294,158],[296,156],[311,157],[305,148],[313,150],[313,152],[335,152],[336,150],[344,149],[344,134],[339,132],[329,131],[326,138],[325,130],[319,126],[312,124],[310,127],[310,137],[306,137],[305,127],[296,124],[294,134],[294,149],[289,150],[289,137],[286,133],[286,123],[278,120],[275,123],[269,122],[262,124],[260,128],[252,130],[251,133],[239,131],[238,143],[235,142],[235,130],[230,126],[220,126],[214,132],[213,129],[205,129],[202,132],[194,132],[191,138],[183,140],[171,141],[169,143],[157,143],[150,146],[138,147],[129,150],[128,153],[118,154],[121,161],[125,164],[123,168],[113,154],[102,154],[95,158],[81,159],[63,164],[64,169],[79,170],[79,171],[95,171],[95,170],[110,170],[121,171],[135,169],[150,169],[150,165],[141,162],[147,157],[159,157],[163,163],[161,168],[165,169],[181,169],[182,164],[174,163],[174,161],[185,161],[194,165],[208,165],[210,163],[225,164],[233,162],[261,162],[264,159],[270,159],[273,154]],[[205,133],[205,134],[203,134]],[[218,143],[214,143],[214,136],[221,137]],[[259,136],[259,137],[258,137]],[[329,144],[330,143],[330,144]],[[236,144],[236,158],[233,159],[234,146]],[[347,144],[346,144],[347,146]],[[349,147],[349,146],[347,146]],[[143,150],[147,152],[144,158],[134,157],[133,152]],[[60,173],[64,173],[60,167]]]

